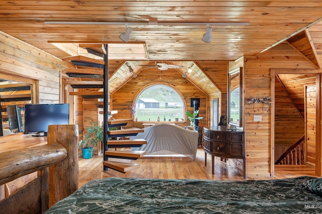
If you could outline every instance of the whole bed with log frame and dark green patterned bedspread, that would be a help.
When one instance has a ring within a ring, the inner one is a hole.
[[[243,181],[112,177],[78,188],[77,131],[60,128],[65,126],[49,128],[48,144],[1,153],[0,185],[38,171],[37,182],[0,201],[1,213],[322,213],[322,178],[310,176]]]

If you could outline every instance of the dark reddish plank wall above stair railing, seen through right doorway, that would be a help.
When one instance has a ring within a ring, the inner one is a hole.
[[[304,87],[302,87],[304,91]],[[304,100],[303,92],[302,103]],[[300,112],[294,106],[291,98],[286,93],[285,88],[275,76],[275,132],[274,132],[274,162],[298,139],[300,139],[304,130],[304,120]],[[315,118],[314,118],[315,119]],[[290,130],[292,130],[290,132]]]

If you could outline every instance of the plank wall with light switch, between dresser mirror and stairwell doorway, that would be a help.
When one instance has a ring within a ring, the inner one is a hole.
[[[256,57],[245,57],[245,98],[271,96],[272,68],[314,69],[287,44],[280,44]],[[274,170],[271,169],[271,107],[245,104],[244,110],[247,176],[270,176]],[[255,122],[254,115],[262,115],[262,121]]]

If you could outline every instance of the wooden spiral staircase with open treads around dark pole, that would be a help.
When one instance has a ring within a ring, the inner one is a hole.
[[[118,139],[120,137],[129,137],[135,136],[137,133],[143,132],[143,129],[137,128],[127,128],[123,129],[122,126],[126,126],[128,122],[132,119],[115,119],[109,120],[112,118],[113,114],[117,114],[116,110],[108,111],[108,95],[104,92],[108,92],[108,60],[107,60],[107,48],[99,44],[88,44],[88,47],[84,47],[88,52],[95,55],[104,55],[104,61],[92,59],[84,56],[73,56],[66,57],[64,60],[71,61],[76,67],[86,67],[86,69],[79,68],[66,68],[63,70],[63,74],[66,74],[71,79],[63,81],[63,84],[70,85],[74,89],[97,89],[96,91],[79,91],[79,92],[70,92],[69,95],[82,96],[83,99],[100,99],[103,98],[104,102],[101,101],[83,101],[84,104],[96,105],[97,108],[103,108],[104,111],[100,114],[104,115],[104,170],[114,169],[119,172],[127,172],[139,168],[140,165],[136,163],[129,163],[124,161],[111,161],[109,158],[118,158],[118,159],[130,159],[136,160],[142,157],[146,152],[145,151],[117,151],[109,150],[109,148],[124,148],[124,147],[140,147],[142,144],[146,144],[144,139]],[[88,68],[95,69],[88,69]],[[106,76],[104,75],[106,74]],[[104,92],[99,91],[100,89]],[[111,127],[120,127],[118,130],[109,130]],[[109,140],[110,139],[110,140]],[[111,140],[113,139],[113,140]],[[116,140],[118,139],[118,140]]]

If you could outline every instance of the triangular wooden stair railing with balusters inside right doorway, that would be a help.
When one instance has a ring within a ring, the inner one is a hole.
[[[289,147],[275,164],[280,165],[303,165],[305,164],[305,138],[304,135]]]

